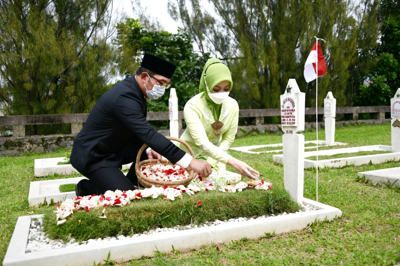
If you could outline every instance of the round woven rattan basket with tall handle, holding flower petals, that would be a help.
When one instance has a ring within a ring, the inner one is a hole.
[[[178,139],[175,137],[166,137],[169,140],[172,141],[178,141],[180,143],[182,143],[183,145],[186,146],[186,148],[189,150],[190,155],[194,156],[194,153],[192,151],[192,148],[190,148],[190,146],[188,145],[188,143],[186,143],[186,141],[183,141],[182,139]],[[138,153],[138,156],[136,157],[136,164],[135,164],[135,170],[136,170],[136,176],[138,177],[138,181],[146,188],[150,188],[153,185],[155,187],[164,187],[165,185],[168,187],[177,187],[179,185],[184,185],[185,187],[187,185],[189,185],[190,181],[192,181],[193,177],[194,177],[194,171],[190,168],[185,168],[186,171],[188,171],[189,176],[187,179],[182,180],[182,181],[158,181],[158,180],[154,180],[152,178],[148,178],[145,175],[142,174],[142,172],[140,171],[140,169],[143,166],[148,166],[148,165],[156,165],[157,164],[157,159],[147,159],[144,161],[140,161],[140,156],[142,155],[144,149],[146,149],[147,145],[144,144]],[[162,159],[161,160],[161,164],[163,165],[173,165],[170,161],[166,160],[166,159]]]

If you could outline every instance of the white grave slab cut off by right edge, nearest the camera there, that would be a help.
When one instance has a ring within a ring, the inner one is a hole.
[[[400,167],[359,172],[358,177],[365,177],[365,180],[369,180],[373,185],[379,183],[382,186],[390,184],[400,187]]]

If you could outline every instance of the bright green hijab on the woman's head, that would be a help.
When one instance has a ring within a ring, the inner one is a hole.
[[[218,83],[224,80],[230,82],[230,89],[232,90],[232,77],[229,68],[218,58],[211,58],[204,65],[203,73],[200,77],[199,92],[204,91],[203,96],[206,98],[207,106],[211,109],[212,115],[214,116],[215,121],[217,121],[221,114],[222,103],[216,104],[208,96],[208,93],[206,92],[206,83],[204,82],[204,73],[206,73],[207,87],[210,92],[216,85],[218,85]]]

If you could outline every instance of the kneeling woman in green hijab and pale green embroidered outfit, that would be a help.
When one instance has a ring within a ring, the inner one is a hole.
[[[196,159],[210,163],[211,180],[224,177],[221,169],[225,165],[232,166],[240,175],[258,180],[258,171],[226,153],[238,130],[239,106],[228,96],[232,86],[228,67],[217,58],[209,59],[200,78],[199,93],[184,107],[187,127],[180,139],[188,143]],[[177,145],[187,151],[181,143]]]

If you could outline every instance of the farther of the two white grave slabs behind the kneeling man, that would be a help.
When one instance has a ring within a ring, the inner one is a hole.
[[[72,165],[58,165],[59,162],[65,162],[65,157],[35,159],[34,173],[35,177],[45,177],[54,173],[60,175],[71,175],[78,173]],[[122,165],[122,170],[129,169],[132,163]]]

